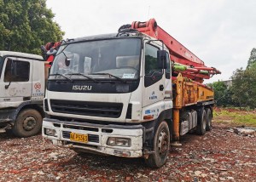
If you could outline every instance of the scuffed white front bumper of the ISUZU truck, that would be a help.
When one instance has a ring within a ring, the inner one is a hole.
[[[45,134],[46,128],[55,129],[55,136]],[[88,142],[74,142],[70,140],[70,133],[88,134]],[[77,151],[89,151],[112,156],[143,156],[143,126],[140,124],[132,126],[103,125],[44,118],[42,134],[44,138],[52,140],[54,145],[77,149]],[[109,137],[131,139],[131,146],[107,145]]]

